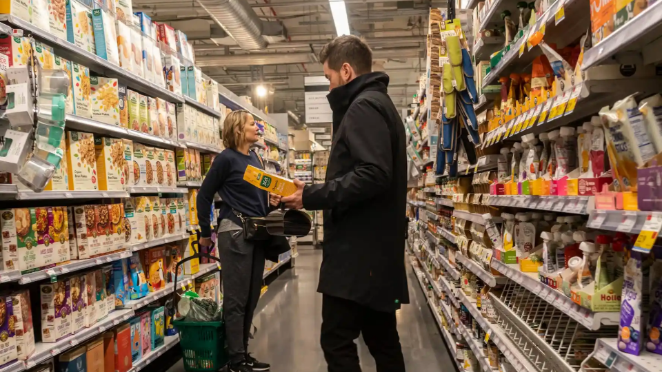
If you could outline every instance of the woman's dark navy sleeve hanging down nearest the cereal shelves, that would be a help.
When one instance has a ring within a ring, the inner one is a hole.
[[[214,159],[214,163],[212,163],[198,192],[196,203],[198,207],[198,224],[202,231],[202,238],[210,238],[212,236],[210,215],[212,214],[214,194],[219,191],[223,182],[225,182],[228,172],[230,172],[230,161],[221,153]]]

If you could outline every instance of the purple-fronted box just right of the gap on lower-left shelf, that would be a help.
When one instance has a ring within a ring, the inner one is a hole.
[[[71,333],[71,293],[68,280],[43,284],[41,293],[41,342],[56,342]]]

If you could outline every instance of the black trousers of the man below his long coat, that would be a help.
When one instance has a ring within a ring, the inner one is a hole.
[[[370,309],[357,302],[323,295],[321,346],[329,372],[361,372],[354,340],[363,335],[377,372],[405,372],[395,311]]]

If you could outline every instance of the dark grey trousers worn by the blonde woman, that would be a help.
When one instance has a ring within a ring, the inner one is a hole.
[[[262,289],[264,250],[255,242],[243,240],[243,231],[219,233],[219,254],[223,278],[223,312],[230,362],[243,360]]]

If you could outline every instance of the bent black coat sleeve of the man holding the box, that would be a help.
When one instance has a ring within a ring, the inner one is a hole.
[[[359,203],[381,194],[391,183],[391,135],[384,117],[366,100],[345,114],[345,139],[356,167],[321,185],[303,189],[305,209],[332,209]]]

